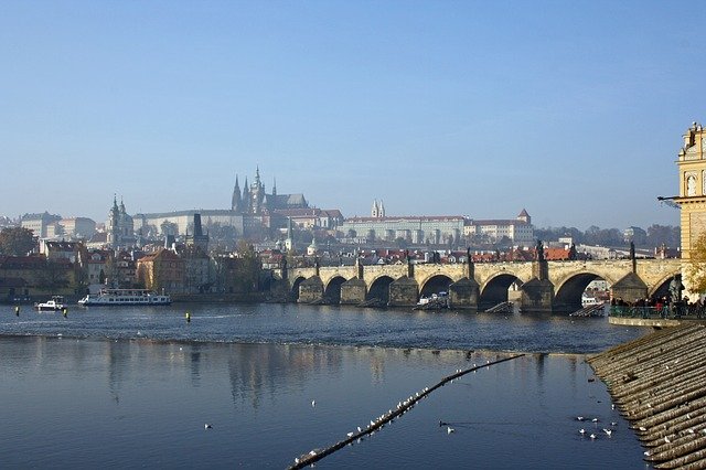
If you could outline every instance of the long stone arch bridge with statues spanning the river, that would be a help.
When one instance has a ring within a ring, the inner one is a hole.
[[[485,309],[518,300],[526,311],[575,311],[595,279],[614,298],[634,301],[666,295],[681,273],[680,259],[606,259],[483,264],[398,264],[289,268],[276,270],[299,302],[415,306],[421,296],[449,292],[456,309]],[[514,291],[514,293],[513,293]]]

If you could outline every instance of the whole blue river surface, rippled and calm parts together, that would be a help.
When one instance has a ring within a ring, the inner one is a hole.
[[[605,318],[298,305],[0,312],[3,468],[285,468],[458,368],[517,352],[528,354],[439,388],[318,467],[644,468],[584,354],[646,330]]]

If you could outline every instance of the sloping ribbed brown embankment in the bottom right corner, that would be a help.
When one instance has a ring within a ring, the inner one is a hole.
[[[706,469],[706,328],[659,330],[588,360],[657,469]]]

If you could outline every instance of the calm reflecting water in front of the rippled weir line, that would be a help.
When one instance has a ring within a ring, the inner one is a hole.
[[[8,424],[0,428],[0,461],[10,468],[282,468],[457,368],[502,356],[0,338],[0,403],[13,405],[0,407]],[[620,419],[589,375],[581,356],[530,354],[482,367],[320,467],[637,467],[641,450],[627,427],[596,442],[577,434],[577,414]],[[441,432],[439,419],[456,432]],[[204,423],[213,429],[204,431]]]

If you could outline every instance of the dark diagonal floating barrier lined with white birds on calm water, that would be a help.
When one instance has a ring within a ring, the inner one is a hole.
[[[436,391],[439,387],[445,386],[447,383],[450,383],[459,377],[462,377],[466,374],[470,374],[471,372],[475,372],[480,368],[483,367],[489,367],[491,365],[496,365],[500,364],[502,362],[506,362],[506,361],[512,361],[514,359],[517,357],[522,357],[525,354],[517,354],[517,355],[513,355],[510,357],[504,357],[498,361],[493,361],[490,362],[488,361],[485,364],[473,364],[473,366],[471,368],[466,368],[466,370],[457,370],[453,374],[448,375],[443,378],[441,378],[441,381],[439,381],[436,385],[431,386],[431,387],[425,387],[419,392],[416,392],[414,395],[410,395],[409,397],[399,400],[397,403],[397,405],[395,406],[394,409],[389,409],[387,413],[382,414],[381,416],[378,416],[375,419],[372,419],[370,421],[370,424],[365,427],[365,428],[361,428],[360,426],[356,428],[355,431],[352,432],[347,432],[346,434],[346,438],[343,440],[340,440],[338,442],[335,442],[332,446],[329,446],[324,449],[313,449],[298,458],[295,459],[295,463],[289,467],[289,469],[301,469],[304,467],[308,467],[312,463],[318,462],[319,460],[323,459],[327,456],[330,456],[331,453],[341,450],[342,448],[344,448],[347,445],[351,445],[355,441],[357,441],[359,439],[362,439],[363,437],[366,437],[368,435],[374,434],[375,431],[382,429],[385,425],[392,423],[395,418],[398,418],[399,416],[404,415],[405,413],[407,413],[409,409],[411,409],[417,402],[419,402],[422,398],[426,398],[431,392]],[[451,429],[451,428],[449,428]],[[448,430],[448,429],[447,429]],[[453,430],[448,430],[449,434],[453,432]]]

